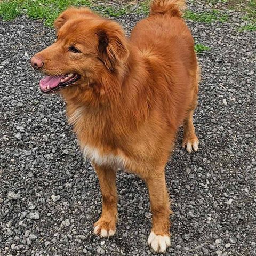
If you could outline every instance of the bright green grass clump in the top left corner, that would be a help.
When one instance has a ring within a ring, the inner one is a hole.
[[[2,17],[4,21],[13,20],[20,14],[20,3],[18,1],[0,2],[0,17]]]

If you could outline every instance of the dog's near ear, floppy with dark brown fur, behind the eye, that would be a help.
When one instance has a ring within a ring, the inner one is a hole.
[[[107,21],[97,28],[99,58],[110,71],[124,63],[128,56],[127,39],[124,30],[113,21]]]

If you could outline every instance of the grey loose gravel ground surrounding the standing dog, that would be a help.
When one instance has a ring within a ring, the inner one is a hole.
[[[229,15],[227,23],[188,21],[211,51],[199,55],[200,149],[183,150],[180,132],[166,166],[174,211],[167,255],[256,255],[256,36],[238,33],[241,13]],[[129,32],[140,18],[118,20]],[[62,99],[39,92],[29,66],[54,31],[26,17],[0,24],[0,255],[153,255],[147,189],[134,175],[118,173],[116,235],[93,235],[97,176],[83,161]]]

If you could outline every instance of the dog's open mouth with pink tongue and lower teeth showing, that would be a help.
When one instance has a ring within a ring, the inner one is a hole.
[[[81,76],[74,73],[63,76],[46,76],[40,81],[39,86],[42,92],[51,93],[74,84],[80,78]]]

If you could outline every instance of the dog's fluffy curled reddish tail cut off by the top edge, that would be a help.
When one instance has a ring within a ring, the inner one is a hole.
[[[170,15],[181,17],[186,8],[185,0],[153,0],[150,15]]]

